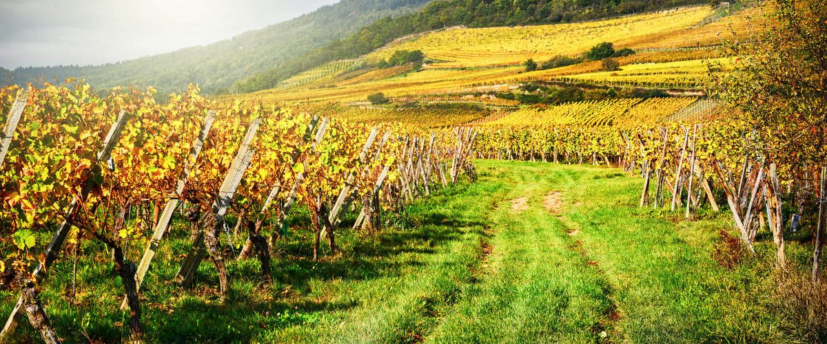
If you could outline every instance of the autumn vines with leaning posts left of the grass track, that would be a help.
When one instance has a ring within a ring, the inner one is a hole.
[[[328,252],[339,252],[337,229],[348,210],[359,214],[354,228],[373,233],[382,208],[401,214],[407,202],[456,182],[461,172],[474,178],[467,160],[471,130],[426,137],[260,104],[217,107],[193,86],[164,106],[151,89],[103,98],[89,90],[47,85],[0,93],[0,110],[9,114],[2,141],[2,281],[22,291],[3,338],[26,315],[45,342],[60,342],[36,285],[60,252],[77,257],[90,241],[111,250],[122,288],[110,291],[127,295],[122,309],[131,313],[131,337],[140,339],[137,292],[173,218],[191,222],[193,232],[189,252],[177,253],[186,254],[176,276],[167,277],[192,287],[209,257],[224,303],[232,289],[224,245],[232,246],[230,214],[236,233],[238,227],[248,233],[238,259],[257,257],[266,281],[270,250],[286,235],[292,208],[312,214],[318,260],[322,238]],[[45,233],[54,234],[37,256]],[[146,251],[136,256],[127,245]]]

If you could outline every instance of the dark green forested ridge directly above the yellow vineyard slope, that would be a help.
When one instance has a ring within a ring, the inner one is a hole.
[[[717,2],[717,0],[713,0]],[[368,54],[404,35],[447,26],[471,27],[555,24],[709,3],[709,0],[439,0],[421,12],[383,18],[344,40],[333,40],[298,59],[289,60],[235,84],[238,92],[274,87],[280,80],[337,59]]]

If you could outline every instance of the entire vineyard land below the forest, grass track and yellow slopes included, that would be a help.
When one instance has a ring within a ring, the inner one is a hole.
[[[825,18],[433,21],[250,94],[0,88],[0,343],[827,342]]]

